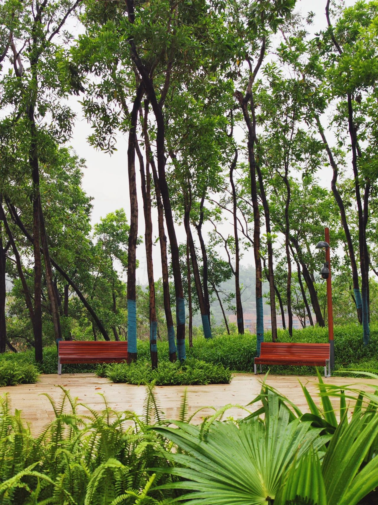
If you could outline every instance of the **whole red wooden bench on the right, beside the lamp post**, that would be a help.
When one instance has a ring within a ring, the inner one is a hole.
[[[263,365],[324,367],[324,376],[331,377],[330,344],[262,342],[260,356],[255,358],[255,374],[257,365],[261,372]]]

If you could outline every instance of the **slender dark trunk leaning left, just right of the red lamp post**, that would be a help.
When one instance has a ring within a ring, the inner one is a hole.
[[[328,154],[328,158],[330,160],[330,165],[333,170],[331,188],[332,188],[332,192],[334,194],[336,203],[339,206],[341,224],[343,226],[345,237],[346,237],[347,244],[348,244],[349,261],[350,261],[350,268],[352,270],[353,293],[354,293],[354,300],[355,300],[356,311],[357,311],[357,319],[358,319],[358,322],[361,324],[362,323],[362,299],[361,299],[361,291],[360,291],[359,279],[358,279],[357,262],[356,262],[356,257],[354,254],[354,246],[353,246],[352,237],[351,237],[348,222],[346,219],[344,202],[343,202],[343,199],[339,193],[339,190],[337,189],[337,178],[338,178],[339,170],[338,170],[337,163],[335,162],[335,159],[333,157],[332,150],[331,150],[331,148],[327,142],[326,136],[324,134],[324,128],[323,128],[318,116],[316,116],[316,121],[317,121],[318,131],[322,137],[325,149]]]

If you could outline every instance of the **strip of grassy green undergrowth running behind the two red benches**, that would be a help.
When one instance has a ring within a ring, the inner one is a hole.
[[[266,332],[265,341],[271,341],[271,333]],[[290,338],[287,331],[279,330],[280,342],[328,342],[327,328],[308,327],[303,330],[293,330]],[[158,341],[159,367],[168,363],[168,342]],[[193,347],[186,341],[186,357],[205,361],[212,365],[223,365],[232,372],[253,372],[256,355],[256,335],[221,335],[212,340],[198,337],[193,341]],[[0,363],[12,361],[17,363],[35,364],[32,350],[13,354],[7,352],[0,356]],[[138,361],[150,362],[150,345],[148,340],[138,341]],[[63,373],[94,372],[95,365],[63,365]],[[265,367],[267,370],[268,367]],[[335,326],[335,370],[333,375],[342,375],[343,369],[375,369],[378,370],[378,324],[370,325],[370,343],[362,343],[362,328],[359,325]],[[38,366],[41,373],[55,374],[57,370],[56,346],[43,349],[43,365]],[[313,367],[270,367],[272,374],[314,375]]]

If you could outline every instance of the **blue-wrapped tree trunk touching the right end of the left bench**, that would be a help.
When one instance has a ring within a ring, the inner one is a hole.
[[[135,174],[135,150],[137,144],[138,111],[141,105],[144,86],[140,84],[131,112],[131,125],[128,148],[128,174],[130,194],[130,232],[128,247],[128,363],[137,360],[137,293],[136,262],[138,241],[138,197]]]

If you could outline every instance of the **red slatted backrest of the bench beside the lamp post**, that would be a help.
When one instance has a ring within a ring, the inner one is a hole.
[[[268,355],[275,358],[290,356],[293,358],[311,357],[329,360],[330,344],[261,342],[260,358]]]

